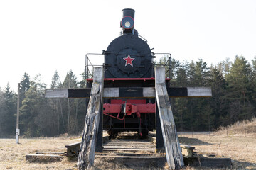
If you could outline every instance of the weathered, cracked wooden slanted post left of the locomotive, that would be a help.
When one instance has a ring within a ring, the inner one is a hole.
[[[103,67],[95,67],[92,90],[85,117],[85,128],[82,134],[82,142],[78,156],[78,169],[90,169],[95,159],[95,140],[100,121],[100,109],[102,108],[102,96],[104,86]]]

